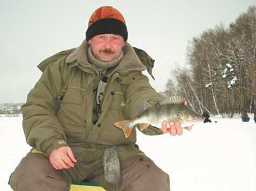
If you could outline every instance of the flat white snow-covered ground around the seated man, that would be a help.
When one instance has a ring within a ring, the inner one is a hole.
[[[250,117],[250,122],[210,117],[213,123],[197,124],[176,137],[138,132],[137,144],[170,175],[171,191],[255,191],[256,123]],[[0,117],[1,190],[12,190],[10,173],[30,149],[22,117]]]

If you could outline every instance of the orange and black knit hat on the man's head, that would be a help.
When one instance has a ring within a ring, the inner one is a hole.
[[[118,34],[123,36],[124,42],[128,39],[126,21],[122,14],[112,6],[102,6],[96,9],[89,19],[86,40],[99,34]]]

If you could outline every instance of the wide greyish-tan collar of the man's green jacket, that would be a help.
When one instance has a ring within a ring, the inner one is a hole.
[[[78,61],[83,67],[92,68],[92,64],[88,61],[88,47],[89,43],[84,40],[78,48],[75,48],[73,52],[67,56],[66,63]],[[133,47],[128,43],[124,43],[123,58],[119,64],[117,64],[115,71],[120,75],[125,75],[130,71],[143,71],[147,68],[142,64],[140,58],[136,55]]]

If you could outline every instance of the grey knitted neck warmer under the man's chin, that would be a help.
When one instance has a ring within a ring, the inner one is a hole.
[[[92,47],[88,48],[88,58],[92,63],[92,68],[96,71],[97,76],[103,76],[109,68],[115,67],[123,58],[123,50],[121,51],[119,57],[110,62],[102,62],[95,58],[92,52]]]

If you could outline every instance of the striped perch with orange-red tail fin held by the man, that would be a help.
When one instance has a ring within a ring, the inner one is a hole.
[[[123,129],[124,136],[129,137],[135,124],[140,124],[141,131],[148,126],[161,127],[163,121],[180,122],[182,127],[189,127],[203,121],[204,117],[188,106],[184,105],[185,99],[179,96],[164,98],[154,106],[144,101],[140,105],[137,117],[115,123],[116,127]]]

